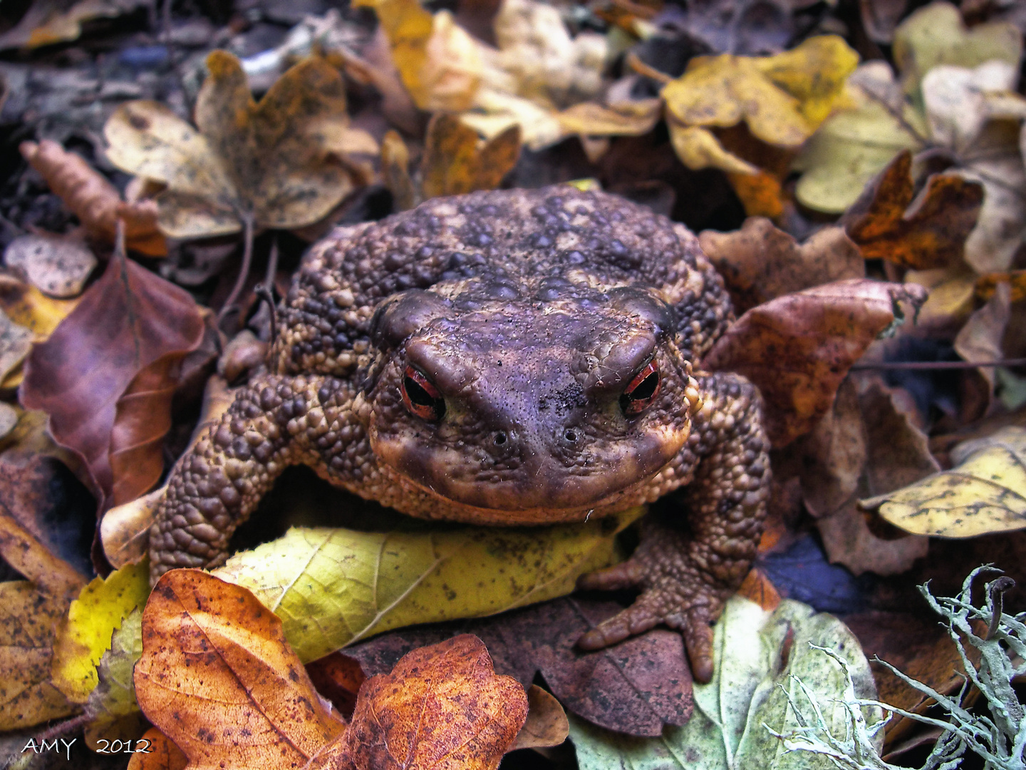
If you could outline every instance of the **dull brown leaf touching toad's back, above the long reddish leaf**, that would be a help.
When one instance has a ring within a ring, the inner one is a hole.
[[[859,247],[839,227],[825,227],[798,245],[770,220],[750,217],[734,232],[703,231],[699,243],[739,314],[791,292],[866,274]]]

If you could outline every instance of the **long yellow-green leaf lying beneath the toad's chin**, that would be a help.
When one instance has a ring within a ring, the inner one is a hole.
[[[616,533],[641,513],[549,529],[292,529],[213,574],[251,590],[309,661],[390,628],[569,593],[579,575],[614,561]]]

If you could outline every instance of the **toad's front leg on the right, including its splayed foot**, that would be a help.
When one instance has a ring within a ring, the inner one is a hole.
[[[739,375],[698,377],[705,403],[694,419],[682,452],[686,465],[700,460],[694,480],[678,493],[686,525],[649,515],[641,542],[626,562],[585,575],[581,588],[641,588],[628,609],[585,633],[579,645],[596,650],[658,623],[680,629],[692,672],[713,673],[712,628],[755,557],[770,493],[768,441],[758,390]]]

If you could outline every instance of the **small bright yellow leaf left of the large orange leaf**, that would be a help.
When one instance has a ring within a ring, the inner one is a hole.
[[[96,665],[111,647],[111,634],[150,594],[149,565],[143,562],[97,577],[71,604],[68,622],[53,644],[53,684],[75,703],[85,703],[96,686]]]

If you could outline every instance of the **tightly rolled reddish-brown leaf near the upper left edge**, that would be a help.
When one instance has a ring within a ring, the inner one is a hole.
[[[38,145],[23,142],[18,149],[93,236],[113,243],[121,219],[125,223],[126,247],[148,257],[167,254],[167,242],[157,229],[157,208],[152,202],[125,203],[106,177],[56,142],[45,139]]]

